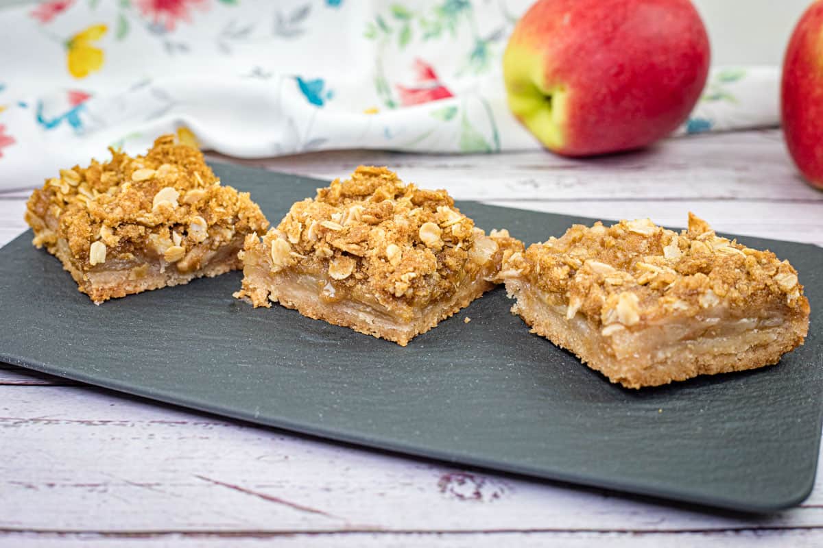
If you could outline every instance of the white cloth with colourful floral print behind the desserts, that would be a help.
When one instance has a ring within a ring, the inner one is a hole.
[[[161,133],[242,158],[540,145],[500,57],[531,0],[53,0],[0,10],[0,190]],[[717,67],[681,134],[778,123],[777,67]]]

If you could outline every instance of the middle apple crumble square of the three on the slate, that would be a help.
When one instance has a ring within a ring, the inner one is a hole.
[[[235,297],[406,346],[493,288],[504,256],[522,250],[504,230],[475,227],[446,191],[360,166],[246,238]]]

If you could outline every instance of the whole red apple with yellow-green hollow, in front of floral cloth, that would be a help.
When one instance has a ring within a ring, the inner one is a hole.
[[[503,57],[509,108],[548,149],[630,150],[686,120],[709,71],[689,0],[540,0]]]

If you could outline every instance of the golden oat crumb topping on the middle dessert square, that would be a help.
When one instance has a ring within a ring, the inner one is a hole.
[[[491,279],[495,257],[500,265],[504,254],[523,250],[506,231],[486,236],[446,191],[365,166],[292,205],[263,243],[273,270],[328,274],[338,289],[386,306],[435,302],[481,269]]]

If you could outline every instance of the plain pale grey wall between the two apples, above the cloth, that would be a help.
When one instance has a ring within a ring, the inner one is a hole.
[[[114,0],[102,0],[114,2]],[[362,2],[363,0],[349,0]],[[709,28],[715,64],[777,65],[811,0],[692,0]],[[0,7],[26,0],[0,0]]]

